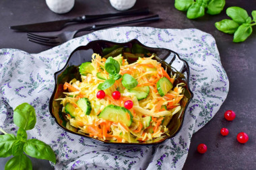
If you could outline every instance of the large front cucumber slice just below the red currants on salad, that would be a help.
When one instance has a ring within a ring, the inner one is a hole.
[[[122,122],[127,126],[130,126],[133,122],[133,116],[131,112],[126,108],[117,105],[108,105],[100,112],[99,118],[109,120],[112,122]]]

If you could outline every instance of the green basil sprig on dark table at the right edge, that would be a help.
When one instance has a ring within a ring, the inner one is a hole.
[[[223,19],[220,22],[216,22],[216,28],[221,32],[234,34],[233,42],[245,41],[253,32],[252,27],[256,25],[256,10],[251,13],[253,19],[241,7],[228,7],[226,14],[231,19]]]

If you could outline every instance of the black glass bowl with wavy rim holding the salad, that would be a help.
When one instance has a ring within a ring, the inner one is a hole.
[[[56,101],[55,99],[65,97],[63,95],[63,84],[65,82],[69,82],[73,78],[81,80],[78,67],[83,62],[91,61],[93,53],[100,54],[100,56],[104,57],[115,57],[121,53],[123,53],[123,55],[131,54],[130,56],[126,55],[128,57],[127,60],[129,61],[129,63],[137,60],[136,57],[141,56],[141,54],[147,57],[148,55],[154,53],[156,54],[156,57],[154,57],[154,59],[158,60],[158,62],[162,64],[162,67],[167,68],[168,74],[170,74],[171,72],[177,73],[177,79],[174,82],[174,87],[177,85],[177,83],[185,83],[183,91],[184,97],[181,100],[181,111],[177,114],[174,114],[172,120],[170,120],[170,123],[167,126],[170,136],[166,136],[161,140],[150,140],[139,143],[109,142],[100,140],[98,138],[92,138],[88,134],[79,133],[77,132],[77,128],[70,126],[69,121],[65,117],[65,114],[61,111],[63,108],[63,106],[60,104],[61,101]],[[160,144],[166,139],[172,138],[179,132],[183,124],[185,110],[192,97],[193,93],[189,89],[189,66],[187,65],[187,62],[185,60],[179,58],[179,55],[176,52],[165,48],[150,48],[148,46],[144,46],[138,40],[131,40],[124,43],[109,42],[106,40],[96,40],[89,42],[86,46],[79,46],[75,50],[73,50],[67,60],[67,64],[65,65],[65,67],[55,73],[55,89],[50,99],[49,111],[51,113],[51,116],[55,118],[55,121],[59,125],[59,127],[72,134],[77,134],[79,136],[84,136],[92,140],[97,140],[98,142],[104,144],[152,145]]]

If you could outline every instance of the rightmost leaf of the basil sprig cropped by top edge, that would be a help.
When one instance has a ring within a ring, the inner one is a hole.
[[[220,13],[224,6],[226,1],[225,0],[212,0],[207,5],[207,13],[210,15],[216,15]]]

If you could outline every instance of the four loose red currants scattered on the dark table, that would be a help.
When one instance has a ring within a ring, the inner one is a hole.
[[[232,110],[227,110],[224,114],[224,118],[228,121],[232,121],[232,120],[234,120],[234,118],[236,118],[236,114],[234,114],[234,112]],[[222,136],[227,136],[228,129],[222,128],[220,130],[220,134],[222,134]],[[246,143],[249,140],[249,137],[245,132],[240,132],[237,134],[236,139],[240,143]],[[199,153],[205,153],[207,151],[207,146],[205,144],[201,143],[197,146],[197,151]]]

